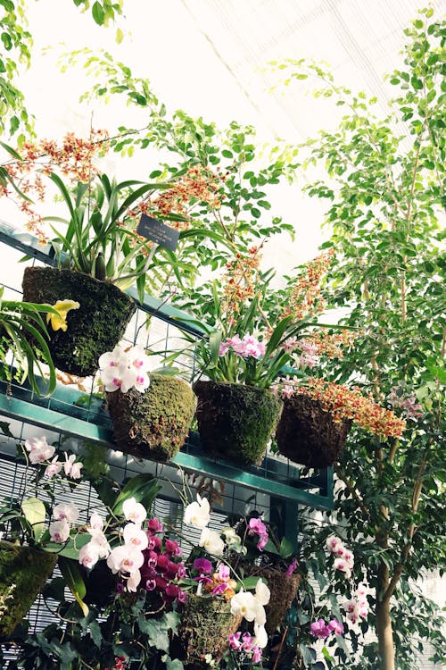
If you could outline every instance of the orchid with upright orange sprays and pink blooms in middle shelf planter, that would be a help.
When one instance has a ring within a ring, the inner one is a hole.
[[[259,247],[251,247],[247,255],[237,254],[221,280],[213,282],[211,292],[203,295],[197,290],[187,305],[209,323],[191,320],[204,337],[196,343],[185,337],[191,342],[198,374],[212,381],[268,389],[284,370],[305,378],[303,368],[311,355],[342,355],[341,347],[351,339],[343,329],[328,333],[328,326],[318,322],[326,306],[320,285],[332,255],[322,254],[306,264],[306,274],[294,279],[286,299],[277,297],[275,272],[262,272],[260,260]]]

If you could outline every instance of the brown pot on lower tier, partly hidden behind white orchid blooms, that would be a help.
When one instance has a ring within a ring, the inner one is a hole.
[[[271,635],[283,621],[286,612],[297,595],[297,590],[301,583],[301,574],[286,574],[282,568],[262,565],[251,565],[245,568],[245,574],[249,574],[252,577],[264,577],[265,581],[268,582],[271,596],[268,605],[265,605],[265,614],[267,616],[265,628],[268,634]]]

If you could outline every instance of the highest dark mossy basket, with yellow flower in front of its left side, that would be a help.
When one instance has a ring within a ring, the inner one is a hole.
[[[67,331],[53,331],[48,325],[48,347],[58,370],[81,377],[96,372],[99,356],[118,344],[136,311],[132,297],[82,272],[28,267],[22,286],[26,302],[55,305],[71,299],[80,304],[67,314]]]

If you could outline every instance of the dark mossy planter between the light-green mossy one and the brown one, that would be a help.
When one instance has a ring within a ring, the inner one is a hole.
[[[198,381],[196,417],[204,451],[239,465],[260,464],[282,401],[268,389]]]

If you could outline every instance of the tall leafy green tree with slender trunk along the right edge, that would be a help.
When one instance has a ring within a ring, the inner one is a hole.
[[[352,670],[376,668],[377,655],[381,668],[392,667],[393,653],[398,670],[409,670],[417,667],[423,641],[434,644],[437,659],[444,646],[438,608],[415,585],[425,571],[445,565],[444,23],[423,10],[406,35],[404,63],[391,77],[398,92],[384,119],[374,113],[376,100],[337,87],[317,64],[278,66],[289,82],[316,78],[318,96],[347,109],[335,131],[299,147],[302,167],[316,163],[327,172],[327,180],[305,189],[328,203],[333,234],[324,247],[336,252],[329,302],[345,308],[343,323],[361,329],[332,374],[357,381],[408,419],[398,441],[351,431],[336,466],[343,482],[336,521],[375,590],[362,632],[375,628],[378,645],[351,632],[359,654],[348,661]],[[311,550],[333,529],[313,532]],[[378,625],[387,607],[394,651]],[[330,655],[329,667],[345,666],[339,645]]]

